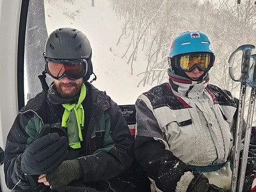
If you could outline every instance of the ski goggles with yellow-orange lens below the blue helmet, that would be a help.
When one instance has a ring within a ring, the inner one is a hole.
[[[198,67],[201,71],[207,71],[212,67],[212,57],[210,54],[189,54],[177,57],[176,67],[186,72]]]

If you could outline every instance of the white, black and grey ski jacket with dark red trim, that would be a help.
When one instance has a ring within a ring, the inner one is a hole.
[[[158,191],[175,191],[188,165],[225,163],[237,105],[229,91],[170,76],[141,94],[134,153]]]

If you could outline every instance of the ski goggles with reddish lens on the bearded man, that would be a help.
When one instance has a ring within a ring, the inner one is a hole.
[[[71,80],[78,80],[87,73],[87,61],[85,59],[58,60],[46,58],[46,71],[56,80],[61,80],[65,75]]]

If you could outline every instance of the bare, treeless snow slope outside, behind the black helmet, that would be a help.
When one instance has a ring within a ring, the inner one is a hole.
[[[118,104],[134,104],[136,98],[152,86],[137,87],[141,76],[136,76],[145,70],[147,62],[145,53],[140,51],[138,59],[133,63],[134,74],[130,75],[130,64],[127,58],[121,58],[126,52],[129,40],[117,40],[122,32],[122,18],[117,17],[108,0],[75,0],[73,4],[62,0],[45,1],[45,19],[47,32],[50,34],[60,27],[72,27],[86,34],[92,46],[93,71],[97,81],[93,82]],[[112,51],[110,51],[110,49]]]

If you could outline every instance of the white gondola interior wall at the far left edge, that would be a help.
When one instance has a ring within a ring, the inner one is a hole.
[[[22,1],[17,0],[0,1],[0,147],[3,150],[7,134],[18,112],[17,52],[21,4]],[[0,165],[0,180],[1,190],[10,191],[4,182],[3,165]]]

